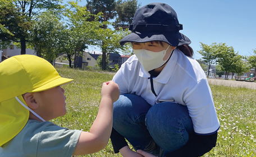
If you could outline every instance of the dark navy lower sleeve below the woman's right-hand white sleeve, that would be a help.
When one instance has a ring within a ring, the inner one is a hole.
[[[216,146],[218,132],[212,135],[196,135],[191,137],[182,148],[166,154],[166,157],[184,156],[196,157],[202,156]]]

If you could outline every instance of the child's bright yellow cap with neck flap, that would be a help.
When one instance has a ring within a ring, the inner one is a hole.
[[[29,110],[15,97],[25,103],[22,94],[45,91],[71,81],[60,77],[47,60],[38,56],[17,55],[0,63],[0,146],[19,134],[29,118]]]

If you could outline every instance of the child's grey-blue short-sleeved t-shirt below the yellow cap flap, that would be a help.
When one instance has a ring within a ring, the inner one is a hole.
[[[80,130],[28,120],[24,129],[0,148],[0,156],[72,156]]]

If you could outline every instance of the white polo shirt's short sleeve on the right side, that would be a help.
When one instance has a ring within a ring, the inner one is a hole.
[[[194,131],[199,135],[215,132],[220,127],[207,79],[200,80],[193,89],[184,94]]]

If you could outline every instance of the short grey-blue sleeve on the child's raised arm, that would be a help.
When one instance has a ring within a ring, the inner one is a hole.
[[[48,123],[40,133],[37,156],[72,156],[80,134],[80,130],[68,130]]]

